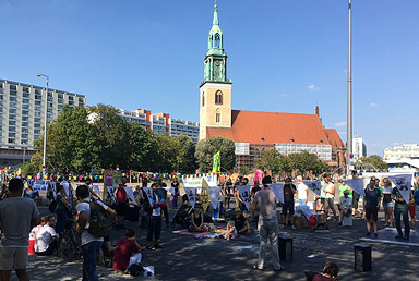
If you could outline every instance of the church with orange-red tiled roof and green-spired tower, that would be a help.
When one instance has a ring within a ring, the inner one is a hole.
[[[331,168],[345,167],[345,144],[335,129],[323,126],[319,107],[315,114],[232,110],[231,85],[215,4],[200,85],[200,140],[223,136],[235,142],[236,172],[243,166],[254,170],[255,162],[272,149],[283,155],[306,150]]]

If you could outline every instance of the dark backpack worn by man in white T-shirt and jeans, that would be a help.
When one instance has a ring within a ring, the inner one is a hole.
[[[110,215],[97,201],[91,201],[88,206],[91,207],[88,233],[95,239],[108,235],[112,230]]]

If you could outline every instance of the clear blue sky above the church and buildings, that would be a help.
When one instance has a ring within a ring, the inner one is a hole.
[[[0,0],[0,77],[199,121],[211,0]],[[346,131],[347,0],[218,0],[234,109]],[[352,0],[354,132],[419,143],[418,0]],[[251,132],[250,132],[251,133]],[[346,135],[342,134],[345,142]]]

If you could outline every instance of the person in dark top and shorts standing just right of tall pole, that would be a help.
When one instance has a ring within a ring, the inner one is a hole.
[[[371,179],[363,197],[363,209],[367,216],[367,236],[371,235],[371,223],[374,227],[374,236],[379,236],[376,233],[376,221],[379,219],[380,197],[381,193],[375,188],[375,179]]]

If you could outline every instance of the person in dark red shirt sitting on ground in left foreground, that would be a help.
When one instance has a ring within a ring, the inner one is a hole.
[[[133,228],[125,229],[125,236],[119,241],[115,249],[112,269],[123,272],[131,265],[141,264],[141,252],[144,248],[135,241],[135,230]]]

